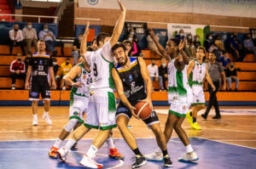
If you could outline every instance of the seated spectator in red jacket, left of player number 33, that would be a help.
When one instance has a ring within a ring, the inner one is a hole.
[[[18,54],[16,59],[9,66],[12,77],[12,90],[15,90],[16,79],[26,80],[26,66],[24,62],[21,61],[21,54]]]

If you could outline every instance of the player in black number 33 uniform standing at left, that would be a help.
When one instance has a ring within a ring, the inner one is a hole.
[[[50,100],[50,87],[48,82],[48,72],[49,77],[52,82],[52,88],[56,88],[55,76],[53,70],[52,60],[49,54],[45,53],[45,42],[44,40],[38,41],[38,52],[32,54],[32,57],[29,61],[29,65],[26,72],[26,83],[25,89],[29,87],[30,76],[32,76],[32,83],[29,93],[29,100],[32,100],[32,113],[33,113],[33,126],[38,125],[38,100],[39,93],[44,100],[44,115],[43,118],[46,122],[51,125],[52,122],[49,119],[49,100]]]

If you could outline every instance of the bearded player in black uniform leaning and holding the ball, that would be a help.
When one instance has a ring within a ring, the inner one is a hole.
[[[135,115],[134,106],[139,101],[148,102],[149,107],[152,108],[152,82],[147,66],[142,58],[129,58],[128,53],[125,53],[125,46],[121,43],[114,45],[112,51],[115,59],[118,61],[116,69],[112,70],[112,76],[121,101],[116,112],[116,124],[123,138],[125,138],[125,142],[136,155],[136,162],[131,168],[137,168],[146,164],[147,161],[139,151],[136,138],[128,129],[127,125],[131,116]],[[145,93],[144,82],[147,93]],[[148,119],[143,121],[154,132],[158,146],[164,155],[164,166],[172,166],[172,161],[166,149],[166,138],[160,129],[160,123],[155,111],[153,110]]]

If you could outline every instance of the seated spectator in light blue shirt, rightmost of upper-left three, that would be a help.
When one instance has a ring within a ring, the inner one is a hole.
[[[55,56],[57,54],[55,36],[52,31],[49,31],[47,24],[44,24],[44,30],[39,32],[39,38],[44,40],[46,49]]]

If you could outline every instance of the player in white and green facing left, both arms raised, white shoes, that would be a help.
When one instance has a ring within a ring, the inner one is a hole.
[[[168,101],[171,106],[164,131],[166,143],[170,140],[174,129],[177,132],[178,138],[181,139],[186,147],[186,154],[179,158],[178,161],[197,161],[198,157],[191,144],[189,144],[188,136],[182,127],[186,112],[192,103],[192,91],[188,85],[186,68],[186,65],[189,64],[189,58],[183,52],[185,41],[180,42],[179,39],[172,38],[166,43],[165,50],[160,45],[160,42],[155,40],[154,31],[149,30],[149,32],[160,53],[166,59],[171,59],[168,64]],[[145,156],[148,160],[161,161],[163,159],[159,149],[153,154]]]

